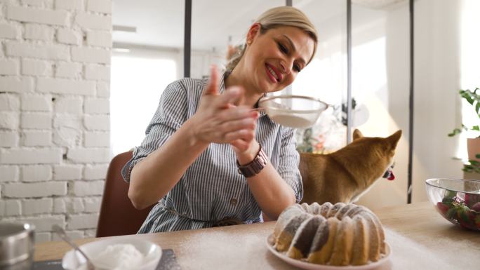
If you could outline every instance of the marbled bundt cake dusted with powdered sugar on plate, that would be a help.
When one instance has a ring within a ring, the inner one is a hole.
[[[315,264],[362,265],[385,255],[385,234],[378,217],[364,206],[302,203],[279,216],[274,248]]]

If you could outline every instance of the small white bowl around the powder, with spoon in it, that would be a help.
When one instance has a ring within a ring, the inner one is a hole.
[[[159,245],[152,243],[150,241],[139,240],[128,237],[121,238],[109,238],[105,240],[99,240],[91,243],[86,243],[80,245],[79,248],[85,252],[88,258],[95,258],[107,248],[109,245],[118,245],[118,244],[131,244],[138,251],[145,256],[142,266],[135,270],[154,270],[156,265],[159,264],[161,258],[161,248]],[[82,264],[85,264],[86,260],[79,252],[70,250],[63,256],[62,267],[65,270],[75,270]]]

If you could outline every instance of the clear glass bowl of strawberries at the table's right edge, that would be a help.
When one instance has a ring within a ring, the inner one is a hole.
[[[433,178],[425,184],[429,200],[442,217],[480,231],[480,180]]]

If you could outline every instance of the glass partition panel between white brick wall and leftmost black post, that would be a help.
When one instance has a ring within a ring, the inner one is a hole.
[[[115,0],[112,22],[111,149],[119,154],[140,145],[162,91],[183,76],[185,1]]]

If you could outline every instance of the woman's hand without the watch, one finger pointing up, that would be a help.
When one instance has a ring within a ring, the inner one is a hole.
[[[218,93],[218,71],[211,69],[211,78],[204,89],[199,108],[192,117],[194,137],[203,143],[231,143],[235,140],[252,140],[258,112],[245,106],[236,106],[244,90],[238,86]]]

